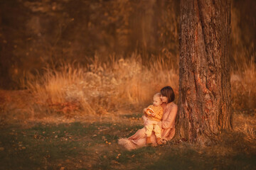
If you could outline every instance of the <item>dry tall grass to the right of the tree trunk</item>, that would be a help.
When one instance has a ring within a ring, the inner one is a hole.
[[[245,55],[245,53],[243,54]],[[255,55],[249,63],[242,60],[238,69],[231,72],[231,101],[233,129],[241,132],[245,140],[255,145],[256,139],[256,64]]]

